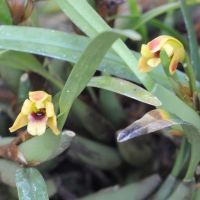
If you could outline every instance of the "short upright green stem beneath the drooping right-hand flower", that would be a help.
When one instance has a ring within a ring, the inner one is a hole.
[[[187,54],[183,61],[183,67],[184,67],[185,73],[187,74],[189,78],[189,86],[190,86],[191,94],[193,95],[194,92],[197,91],[197,88],[196,88],[196,83],[195,83],[194,71]]]

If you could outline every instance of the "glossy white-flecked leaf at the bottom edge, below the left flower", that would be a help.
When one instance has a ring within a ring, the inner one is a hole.
[[[18,169],[15,177],[19,200],[48,200],[44,179],[37,169]]]

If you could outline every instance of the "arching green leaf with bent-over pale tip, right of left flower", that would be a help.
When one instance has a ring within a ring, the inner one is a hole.
[[[117,30],[106,31],[95,37],[81,54],[81,57],[73,67],[61,93],[60,112],[65,113],[65,115],[60,117],[62,120],[62,122],[60,122],[61,127],[62,124],[64,125],[65,118],[74,99],[86,87],[106,52],[121,35],[126,35],[136,40],[140,39],[140,35],[136,32],[131,33],[129,31]]]

